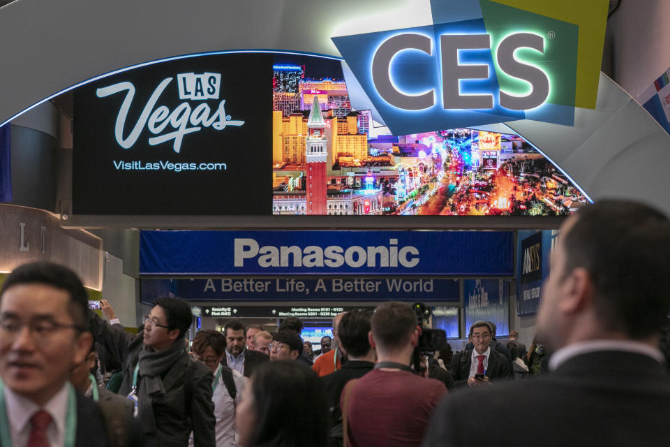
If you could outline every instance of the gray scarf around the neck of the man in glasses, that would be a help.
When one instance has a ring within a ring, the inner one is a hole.
[[[184,353],[184,341],[178,339],[165,351],[156,352],[148,346],[140,351],[140,380],[137,386],[137,418],[144,432],[156,432],[153,397],[165,395],[161,374],[168,371]]]

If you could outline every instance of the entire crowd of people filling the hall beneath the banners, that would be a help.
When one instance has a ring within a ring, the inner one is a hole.
[[[402,302],[338,314],[315,351],[295,317],[189,343],[184,300],[157,298],[133,334],[72,271],[22,265],[0,291],[0,445],[664,445],[670,221],[610,200],[561,230],[530,348],[477,321],[435,356]]]

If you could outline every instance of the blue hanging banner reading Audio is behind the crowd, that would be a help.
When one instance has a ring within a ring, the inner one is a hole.
[[[466,333],[478,320],[496,323],[496,337],[509,335],[509,279],[463,280]]]

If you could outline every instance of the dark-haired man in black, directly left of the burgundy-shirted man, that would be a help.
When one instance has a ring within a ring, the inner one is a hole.
[[[352,310],[344,314],[338,325],[340,344],[347,350],[349,360],[338,371],[320,377],[330,407],[331,426],[341,423],[340,397],[344,386],[375,367],[376,354],[368,339],[371,317],[371,310]],[[338,445],[342,445],[341,439]]]

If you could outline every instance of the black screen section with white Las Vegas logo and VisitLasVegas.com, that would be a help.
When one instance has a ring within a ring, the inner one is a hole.
[[[73,213],[269,214],[271,66],[175,57],[75,89]]]

